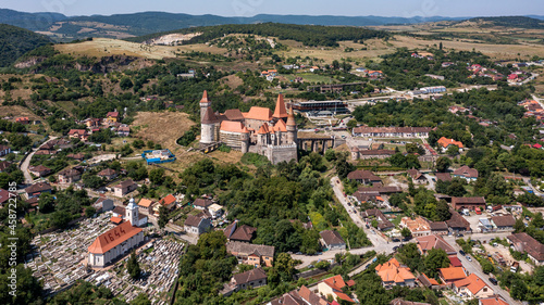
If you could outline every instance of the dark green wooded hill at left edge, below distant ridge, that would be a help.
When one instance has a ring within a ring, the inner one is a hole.
[[[21,55],[51,42],[28,29],[0,24],[0,67],[14,63]]]

